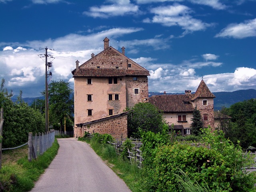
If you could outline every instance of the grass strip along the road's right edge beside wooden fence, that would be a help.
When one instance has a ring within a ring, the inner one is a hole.
[[[140,185],[141,170],[128,159],[123,160],[110,145],[101,145],[94,140],[86,140],[104,162],[126,183],[132,192],[145,192]]]

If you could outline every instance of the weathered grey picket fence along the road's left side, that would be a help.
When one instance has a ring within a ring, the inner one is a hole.
[[[55,130],[50,130],[47,133],[39,133],[32,136],[28,134],[28,161],[36,159],[42,155],[54,142]]]

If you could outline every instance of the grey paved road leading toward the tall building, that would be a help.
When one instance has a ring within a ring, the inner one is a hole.
[[[58,154],[31,192],[131,192],[90,146],[58,139]]]

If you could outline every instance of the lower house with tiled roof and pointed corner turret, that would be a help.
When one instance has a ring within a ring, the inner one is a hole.
[[[153,95],[148,101],[164,112],[164,117],[176,132],[182,135],[190,134],[194,108],[197,107],[202,115],[204,127],[214,128],[214,94],[202,80],[194,94],[191,90],[185,90],[185,94]]]

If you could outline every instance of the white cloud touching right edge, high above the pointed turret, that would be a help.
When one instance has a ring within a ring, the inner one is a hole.
[[[247,38],[256,36],[256,19],[246,20],[244,23],[230,24],[222,29],[215,37]]]

